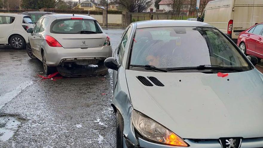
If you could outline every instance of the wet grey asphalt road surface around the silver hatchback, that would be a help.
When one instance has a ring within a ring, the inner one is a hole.
[[[104,31],[115,50],[123,30]],[[112,71],[53,81],[37,76],[42,67],[0,45],[0,147],[115,147]]]

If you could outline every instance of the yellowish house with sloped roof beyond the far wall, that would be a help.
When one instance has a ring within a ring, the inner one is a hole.
[[[94,0],[86,0],[78,4],[73,9],[84,9],[84,10],[102,10],[105,9],[100,3],[95,2]]]

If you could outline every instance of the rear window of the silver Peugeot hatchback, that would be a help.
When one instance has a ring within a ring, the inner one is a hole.
[[[90,19],[59,19],[51,24],[50,32],[58,34],[102,33],[98,22]]]

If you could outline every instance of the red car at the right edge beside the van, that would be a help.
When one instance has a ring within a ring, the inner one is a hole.
[[[237,45],[244,54],[263,59],[263,23],[241,32]]]

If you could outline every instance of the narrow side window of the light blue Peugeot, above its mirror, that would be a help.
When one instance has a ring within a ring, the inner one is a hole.
[[[119,51],[118,51],[118,61],[120,64],[122,63],[124,51],[125,51],[125,48],[127,46],[127,42],[128,42],[129,36],[131,34],[131,31],[132,31],[132,28],[130,27],[127,30],[127,32],[124,34],[123,39],[120,42],[120,47],[119,47]]]

